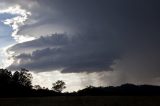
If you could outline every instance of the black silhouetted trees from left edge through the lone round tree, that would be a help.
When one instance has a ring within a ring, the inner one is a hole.
[[[62,80],[53,83],[52,90],[49,90],[40,85],[33,86],[32,79],[32,74],[24,68],[20,71],[0,69],[0,97],[60,95],[66,88]]]

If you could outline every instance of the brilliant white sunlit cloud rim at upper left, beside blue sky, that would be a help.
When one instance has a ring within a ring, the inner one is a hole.
[[[16,40],[16,42],[21,43],[34,39],[34,37],[29,37],[28,35],[18,35],[20,27],[25,25],[25,22],[27,21],[28,16],[31,15],[31,12],[22,9],[19,5],[15,5],[0,10],[0,14],[4,13],[15,15],[15,17],[3,20],[2,22],[5,25],[9,25],[13,29],[12,37]]]

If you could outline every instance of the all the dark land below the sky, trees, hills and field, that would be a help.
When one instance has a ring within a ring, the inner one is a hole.
[[[26,69],[0,69],[0,106],[159,106],[160,86],[124,84],[93,87],[62,93],[65,82],[53,83],[52,90],[32,85]]]

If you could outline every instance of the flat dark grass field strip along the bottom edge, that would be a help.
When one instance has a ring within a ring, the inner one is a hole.
[[[160,96],[1,98],[0,106],[160,106]]]

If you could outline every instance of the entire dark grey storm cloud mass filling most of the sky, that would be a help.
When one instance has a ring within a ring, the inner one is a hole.
[[[109,73],[115,79],[108,82],[112,84],[160,77],[158,0],[30,2],[23,7],[32,16],[18,34],[36,39],[8,49],[14,52],[8,68],[65,73],[113,70]],[[106,81],[106,76],[99,76]]]

